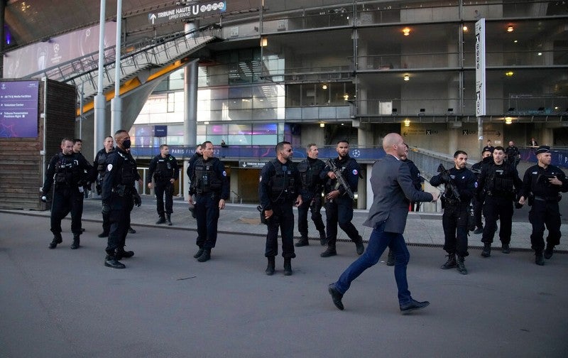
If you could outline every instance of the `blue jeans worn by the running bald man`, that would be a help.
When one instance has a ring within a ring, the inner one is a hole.
[[[373,266],[381,258],[381,255],[388,246],[395,254],[395,280],[398,287],[398,303],[405,305],[410,303],[412,297],[408,291],[408,281],[406,280],[406,266],[410,259],[410,253],[406,248],[403,234],[395,232],[385,232],[385,224],[379,224],[368,239],[367,249],[364,254],[359,256],[339,277],[339,281],[334,283],[335,288],[340,293],[345,293],[351,286],[351,281],[359,277],[363,271]]]

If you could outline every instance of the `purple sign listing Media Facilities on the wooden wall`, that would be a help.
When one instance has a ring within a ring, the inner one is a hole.
[[[0,137],[38,136],[38,81],[0,82]]]

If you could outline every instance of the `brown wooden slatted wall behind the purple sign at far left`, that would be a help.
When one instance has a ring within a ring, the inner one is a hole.
[[[75,133],[75,86],[47,81],[44,109],[43,81],[40,82],[38,117],[45,112],[45,166],[61,151],[61,139]],[[0,208],[45,210],[39,189],[43,185],[43,118],[38,118],[36,138],[0,139]]]

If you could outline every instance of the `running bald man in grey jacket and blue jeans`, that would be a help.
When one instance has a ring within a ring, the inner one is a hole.
[[[368,212],[364,225],[372,227],[373,232],[363,255],[351,264],[339,277],[329,285],[334,305],[343,310],[342,297],[357,278],[367,268],[378,262],[388,246],[395,254],[395,280],[398,287],[398,303],[400,312],[407,314],[413,310],[425,308],[428,301],[414,300],[408,291],[406,266],[410,254],[403,237],[410,202],[431,202],[438,200],[439,192],[422,192],[416,190],[410,178],[410,169],[400,156],[404,155],[403,137],[390,133],[383,139],[383,149],[387,156],[373,164],[371,188],[373,188],[373,205]]]

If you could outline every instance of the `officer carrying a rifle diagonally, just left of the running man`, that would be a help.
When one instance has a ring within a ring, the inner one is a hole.
[[[357,182],[359,181],[359,164],[354,158],[349,157],[349,142],[342,140],[337,142],[337,158],[331,159],[332,163],[341,172],[347,186],[351,192],[357,191]],[[357,254],[363,254],[365,246],[363,238],[351,224],[353,219],[353,199],[347,195],[347,188],[339,185],[337,177],[332,167],[326,165],[320,178],[326,180],[325,189],[325,215],[327,227],[327,249],[320,254],[322,257],[337,255],[335,243],[337,242],[337,224],[347,234],[356,246]]]

